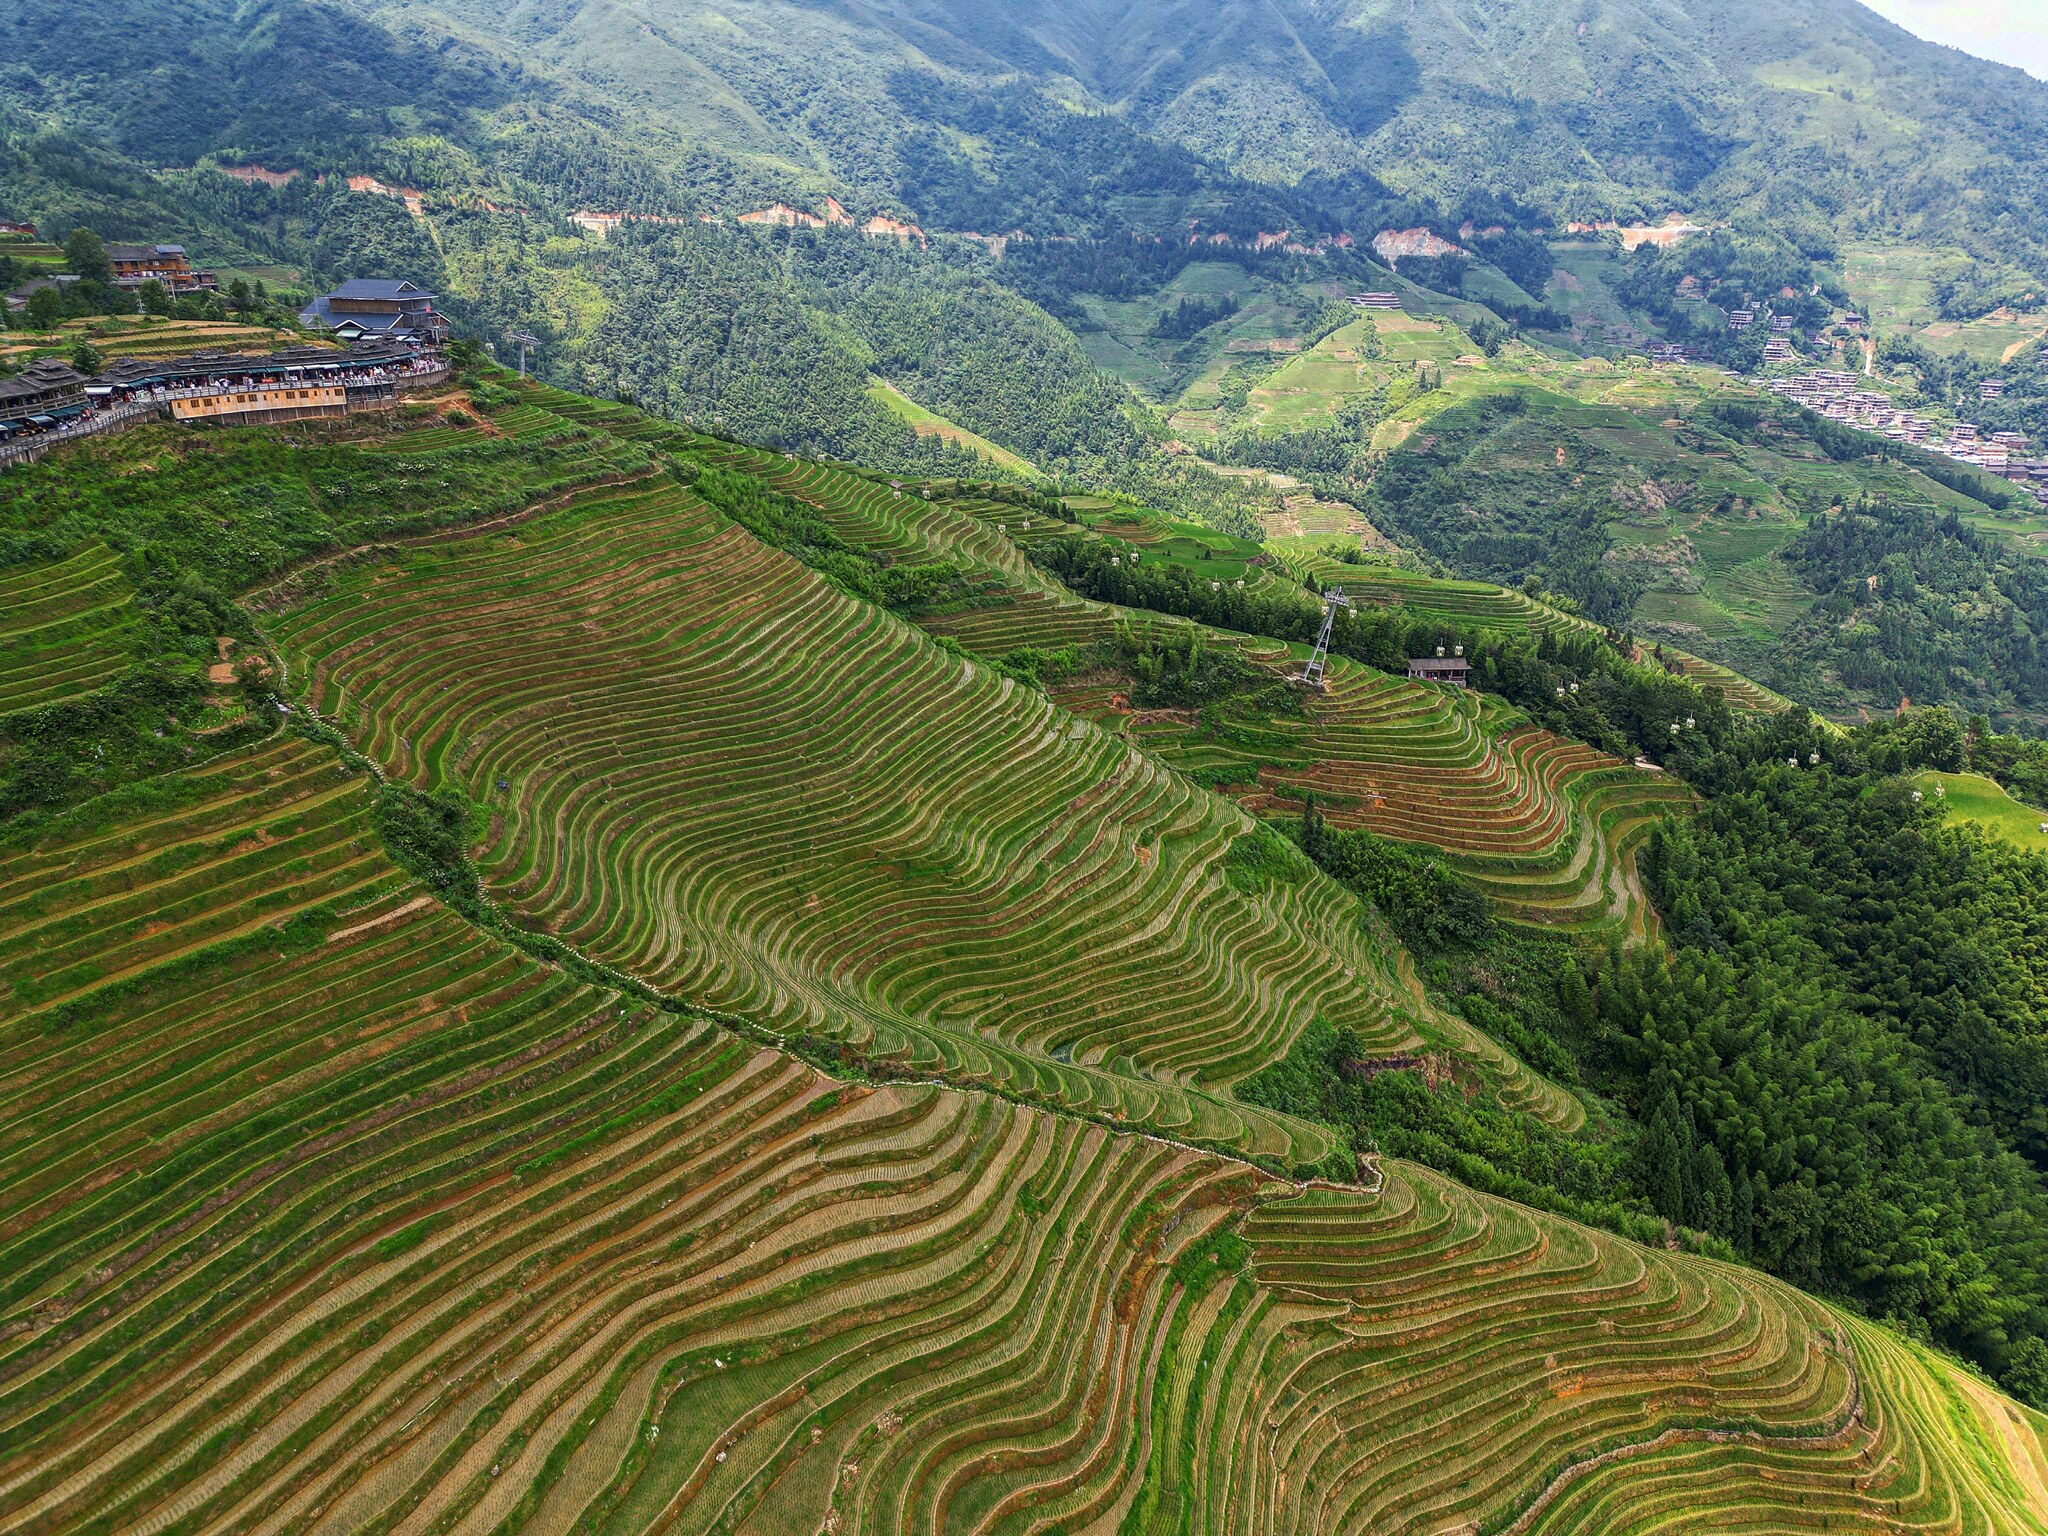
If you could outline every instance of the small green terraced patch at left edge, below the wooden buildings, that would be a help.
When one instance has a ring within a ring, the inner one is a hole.
[[[106,545],[0,571],[0,715],[113,682],[133,659],[137,623],[135,590]]]

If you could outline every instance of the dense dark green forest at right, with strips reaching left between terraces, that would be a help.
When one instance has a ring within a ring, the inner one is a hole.
[[[1647,856],[1669,948],[1591,956],[1489,926],[1438,860],[1311,807],[1305,850],[1446,1001],[1604,1118],[1559,1137],[1454,1081],[1366,1069],[1331,1030],[1245,1092],[1620,1231],[1669,1221],[2044,1403],[2048,858],[1944,825],[1894,776],[1956,741],[1942,711],[1849,739],[1702,733],[1671,760],[1702,809]]]

